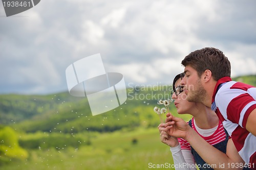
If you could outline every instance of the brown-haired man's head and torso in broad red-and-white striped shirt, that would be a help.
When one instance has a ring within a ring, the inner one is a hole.
[[[232,81],[230,62],[213,47],[190,53],[181,64],[187,100],[211,107],[245,163],[256,166],[256,88]]]

